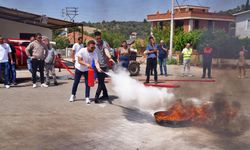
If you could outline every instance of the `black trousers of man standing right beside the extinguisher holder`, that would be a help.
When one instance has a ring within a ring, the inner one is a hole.
[[[108,71],[107,67],[101,67],[101,69],[105,72]],[[103,92],[104,97],[108,97],[108,91],[105,85],[105,78],[107,77],[107,75],[103,72],[98,72],[98,71],[96,72],[97,72],[97,79],[98,79],[98,87],[96,90],[95,98],[98,99],[101,92]]]

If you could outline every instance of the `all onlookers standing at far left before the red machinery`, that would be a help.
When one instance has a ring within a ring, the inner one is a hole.
[[[46,36],[37,33],[30,38],[30,44],[26,47],[27,67],[32,74],[33,88],[37,87],[37,70],[40,72],[41,87],[50,85],[50,73],[53,76],[54,84],[57,85],[55,74],[56,50],[50,44]],[[4,85],[10,88],[10,84],[16,85],[16,50],[8,44],[7,39],[0,36],[0,75],[4,72]],[[46,80],[44,77],[44,70]]]

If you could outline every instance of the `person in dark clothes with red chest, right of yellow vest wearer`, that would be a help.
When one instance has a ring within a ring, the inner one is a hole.
[[[206,77],[206,70],[207,76],[209,79],[211,79],[211,66],[212,66],[212,53],[213,49],[209,46],[209,44],[206,44],[206,47],[203,49],[203,74],[201,78]]]

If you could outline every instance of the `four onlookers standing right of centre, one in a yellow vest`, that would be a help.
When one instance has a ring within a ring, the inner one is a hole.
[[[211,65],[212,65],[212,52],[213,49],[206,44],[205,48],[202,51],[203,55],[203,74],[202,78],[207,77],[212,78],[211,76]],[[185,48],[182,50],[182,58],[183,58],[183,73],[182,76],[192,76],[190,72],[190,64],[191,64],[191,56],[193,54],[193,49],[190,43],[187,43]],[[160,74],[167,76],[167,58],[168,58],[168,48],[164,44],[164,41],[161,40],[160,44],[157,45],[155,43],[154,37],[149,37],[149,44],[144,51],[144,54],[147,56],[147,64],[146,64],[146,81],[145,84],[149,83],[150,75],[154,74],[154,81],[158,83],[157,76],[157,64],[159,63]]]

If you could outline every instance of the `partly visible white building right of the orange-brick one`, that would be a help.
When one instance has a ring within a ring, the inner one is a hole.
[[[235,36],[239,38],[250,38],[250,10],[234,14]]]

